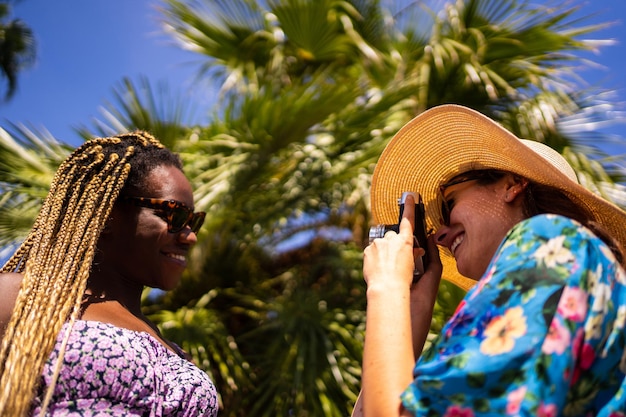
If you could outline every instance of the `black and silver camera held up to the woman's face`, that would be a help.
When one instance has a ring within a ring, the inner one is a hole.
[[[405,191],[398,199],[398,206],[400,208],[400,215],[398,216],[397,224],[378,224],[370,228],[369,241],[372,241],[379,237],[384,237],[385,233],[390,230],[398,233],[400,231],[400,221],[402,220],[402,213],[404,212],[404,201],[407,195],[412,195],[415,201],[415,227],[413,228],[413,247],[424,248],[426,251],[423,256],[415,258],[415,269],[413,270],[413,283],[419,281],[424,275],[426,266],[428,265],[428,250],[426,243],[426,216],[424,213],[424,203],[422,202],[422,196],[418,193]]]

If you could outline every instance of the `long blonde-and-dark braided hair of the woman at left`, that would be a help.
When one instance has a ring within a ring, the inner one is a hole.
[[[158,166],[182,171],[178,155],[148,133],[95,138],[77,148],[57,170],[28,237],[0,272],[23,280],[0,348],[0,415],[28,415],[43,366],[64,323],[79,317],[100,233],[118,195],[141,189]],[[43,400],[47,408],[55,375]]]

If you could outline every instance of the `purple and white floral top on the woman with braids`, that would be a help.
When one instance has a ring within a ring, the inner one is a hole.
[[[34,416],[66,329],[44,367]],[[46,415],[215,417],[217,410],[217,392],[208,375],[150,334],[78,320]]]

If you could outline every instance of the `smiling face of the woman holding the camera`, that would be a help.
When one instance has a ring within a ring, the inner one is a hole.
[[[524,219],[525,187],[506,174],[490,184],[474,179],[445,188],[449,224],[437,230],[435,241],[454,255],[461,274],[475,280],[484,274],[507,232]]]

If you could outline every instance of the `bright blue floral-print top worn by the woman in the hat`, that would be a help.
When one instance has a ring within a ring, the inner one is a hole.
[[[626,225],[625,225],[626,227]],[[428,416],[626,416],[626,274],[577,222],[517,224],[414,370]]]

